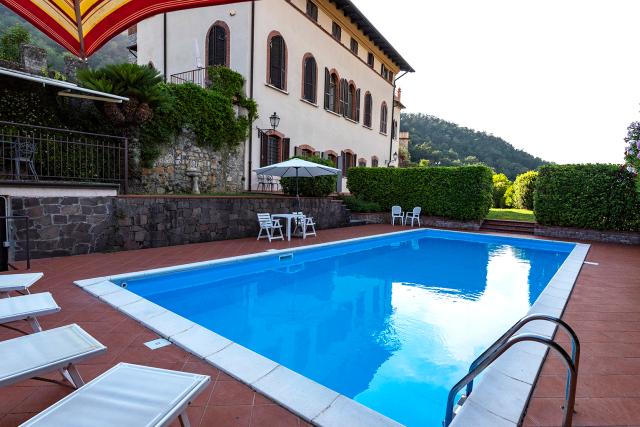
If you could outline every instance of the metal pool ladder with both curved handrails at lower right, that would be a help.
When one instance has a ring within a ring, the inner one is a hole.
[[[537,334],[520,334],[514,336],[514,334],[518,332],[524,325],[535,320],[551,322],[564,329],[571,337],[571,356],[569,356],[569,354],[567,354],[567,352],[551,338],[547,338]],[[447,412],[445,414],[445,419],[442,422],[444,427],[448,427],[449,424],[451,424],[451,422],[453,421],[453,402],[458,392],[466,386],[466,396],[463,397],[463,399],[466,400],[466,398],[469,397],[469,395],[473,391],[473,380],[478,375],[480,375],[482,371],[484,371],[489,365],[491,365],[498,357],[503,355],[507,350],[509,350],[514,345],[525,341],[538,342],[540,344],[544,344],[548,348],[555,350],[567,366],[565,403],[562,406],[562,409],[564,411],[562,426],[571,426],[573,420],[573,408],[576,401],[578,364],[580,361],[580,341],[578,340],[578,336],[576,335],[575,331],[564,320],[546,314],[532,314],[516,322],[484,353],[478,356],[478,358],[474,360],[473,363],[471,363],[471,366],[469,367],[469,373],[467,373],[467,375],[465,375],[460,381],[456,383],[456,385],[451,388],[451,391],[449,391],[449,396],[447,398]]]

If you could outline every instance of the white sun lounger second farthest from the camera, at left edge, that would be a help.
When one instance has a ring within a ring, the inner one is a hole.
[[[34,332],[40,332],[38,317],[59,311],[60,307],[49,292],[3,298],[0,299],[0,324],[26,320]]]

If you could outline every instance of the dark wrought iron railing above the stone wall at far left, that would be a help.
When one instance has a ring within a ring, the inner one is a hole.
[[[0,121],[0,180],[120,184],[129,178],[127,138]]]

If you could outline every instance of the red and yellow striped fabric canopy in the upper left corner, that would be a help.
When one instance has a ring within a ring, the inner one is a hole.
[[[79,58],[159,13],[247,0],[0,0]]]

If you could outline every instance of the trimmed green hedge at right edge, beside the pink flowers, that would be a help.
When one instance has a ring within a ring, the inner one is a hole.
[[[618,165],[544,166],[536,183],[536,219],[551,226],[640,230],[635,180]]]

